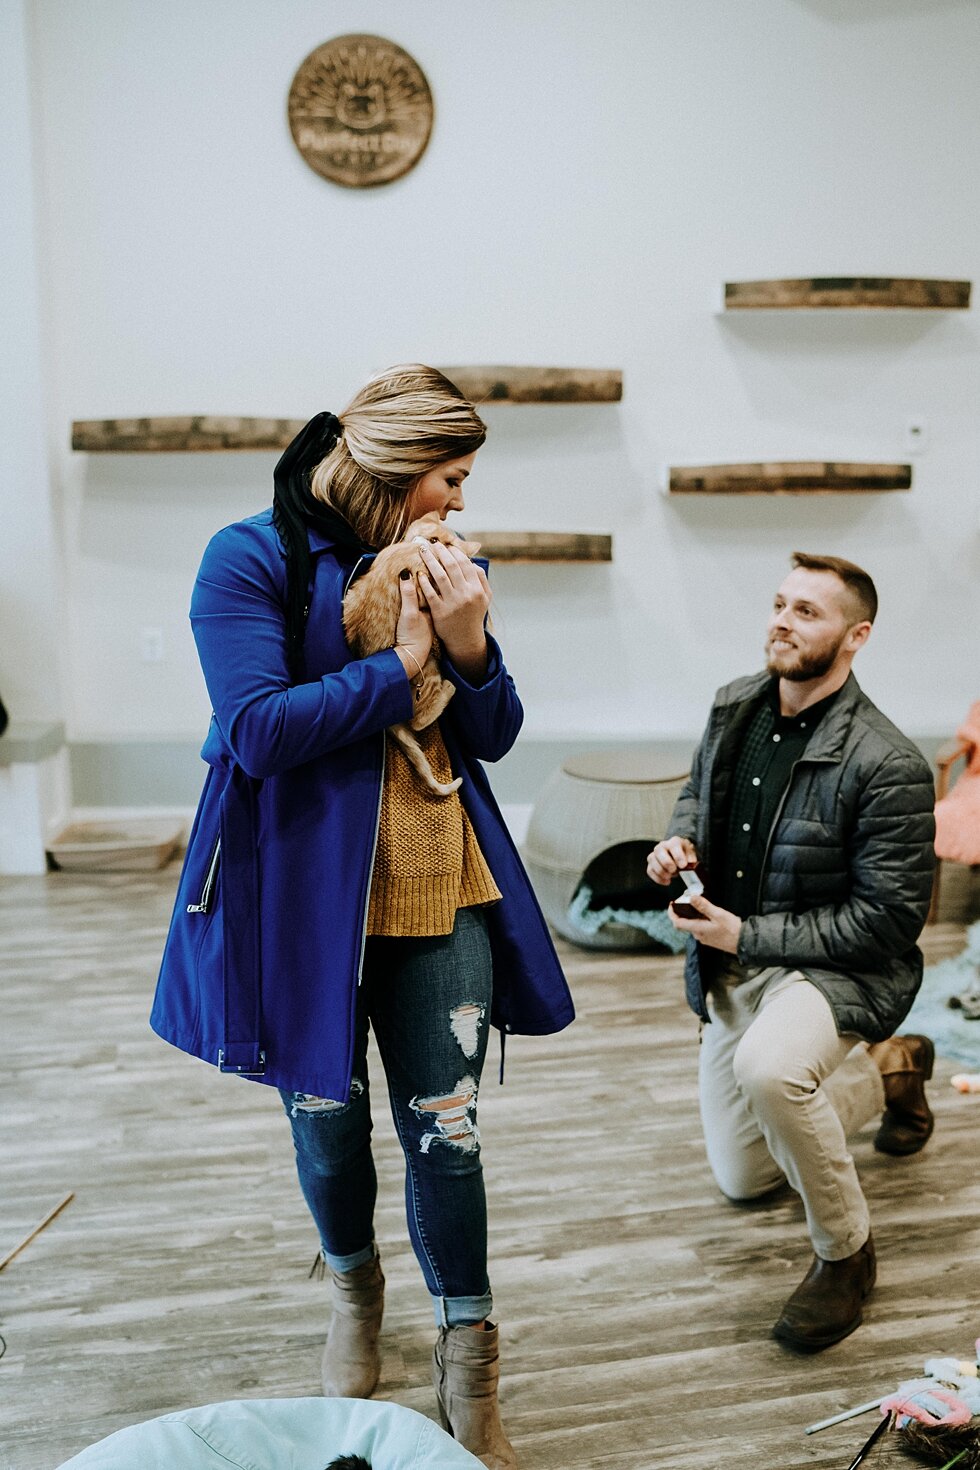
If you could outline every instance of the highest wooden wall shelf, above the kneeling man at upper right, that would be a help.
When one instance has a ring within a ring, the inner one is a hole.
[[[964,312],[970,281],[905,276],[801,276],[793,281],[726,281],[726,312],[933,310]]]

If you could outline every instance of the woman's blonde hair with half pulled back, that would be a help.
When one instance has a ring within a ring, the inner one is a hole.
[[[372,547],[398,541],[423,475],[472,454],[486,425],[454,382],[423,363],[370,378],[339,415],[344,432],[313,470],[310,490]]]

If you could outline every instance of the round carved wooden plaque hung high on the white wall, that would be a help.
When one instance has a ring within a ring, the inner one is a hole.
[[[419,162],[432,93],[419,63],[381,35],[336,35],[310,51],[289,88],[289,131],[323,178],[391,184]]]

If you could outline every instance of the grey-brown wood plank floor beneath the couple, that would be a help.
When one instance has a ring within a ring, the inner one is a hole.
[[[0,1257],[76,1195],[0,1274],[0,1470],[50,1470],[192,1404],[317,1391],[326,1289],[307,1280],[316,1242],[278,1098],[147,1028],[175,882],[176,867],[0,885]],[[962,926],[927,942],[955,953]],[[926,1355],[965,1357],[980,1332],[980,1098],[940,1063],[924,1152],[857,1141],[880,1288],[852,1338],[795,1357],[768,1329],[810,1260],[802,1213],[792,1195],[736,1208],[713,1185],[680,961],[563,954],[577,1022],[516,1038],[480,1101],[522,1470],[846,1466],[871,1419],[802,1427]],[[381,1395],[433,1414],[430,1308],[378,1125]]]

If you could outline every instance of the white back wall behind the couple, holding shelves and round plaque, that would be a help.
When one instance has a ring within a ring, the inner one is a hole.
[[[34,0],[47,412],[69,732],[200,736],[187,628],[275,456],[87,457],[73,417],[341,407],[391,362],[620,366],[619,407],[491,407],[470,528],[597,529],[611,567],[501,567],[538,735],[696,734],[761,662],[788,554],[879,582],[865,688],[911,734],[980,692],[980,315],[713,315],[724,278],[980,282],[973,0]],[[422,163],[341,190],[295,151],[345,31],[432,85]],[[667,463],[905,459],[907,494],[666,498]],[[10,487],[0,492],[4,504]],[[141,663],[160,628],[165,659]],[[0,669],[19,678],[19,656]]]

